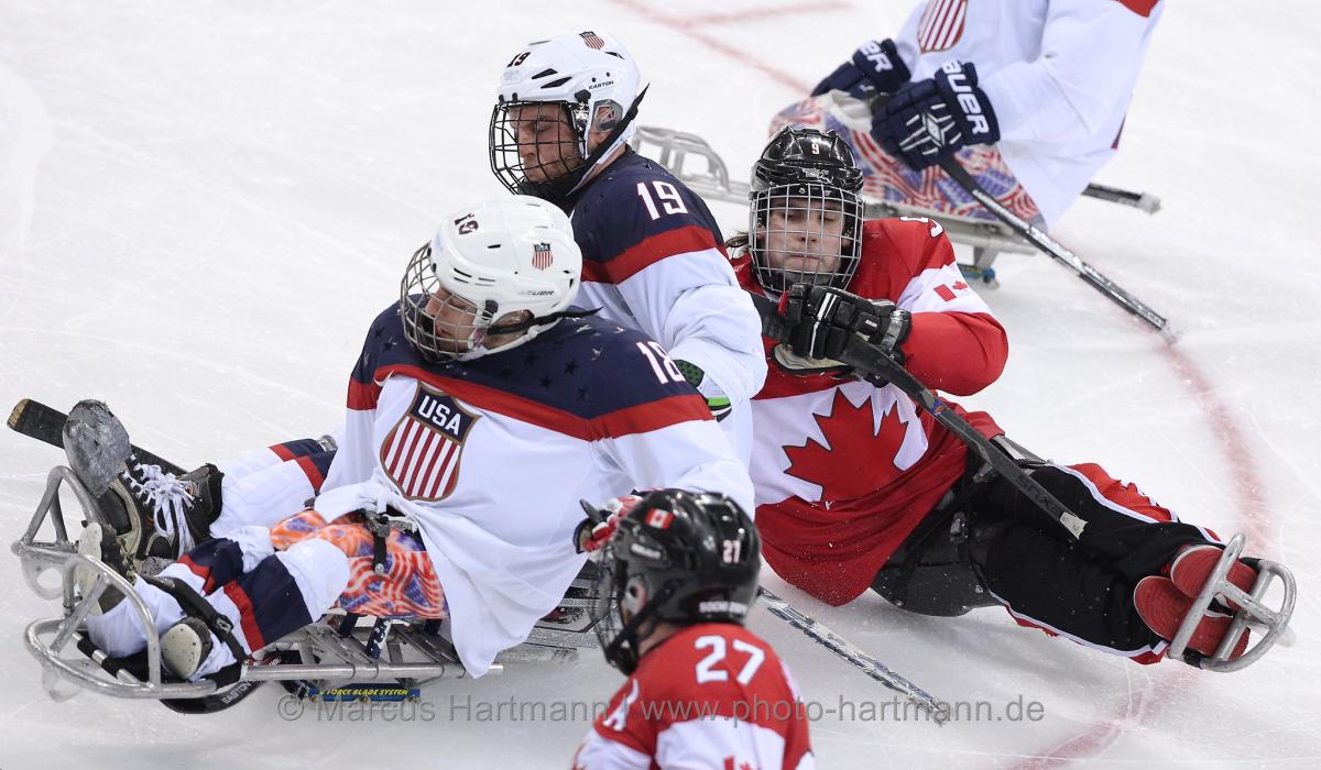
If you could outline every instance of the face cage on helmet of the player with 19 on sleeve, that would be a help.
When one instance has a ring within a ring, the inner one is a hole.
[[[585,102],[501,99],[491,110],[491,170],[511,193],[563,201],[587,173],[587,135]]]

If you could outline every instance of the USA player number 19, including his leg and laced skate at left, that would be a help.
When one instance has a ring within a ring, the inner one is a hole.
[[[643,92],[637,63],[609,34],[527,44],[501,77],[491,168],[511,192],[572,213],[584,262],[575,302],[659,341],[746,461],[748,400],[766,376],[761,325],[707,206],[627,148]],[[192,543],[296,510],[321,490],[341,438],[333,431],[283,441],[188,477],[125,456],[153,494],[125,481],[107,505],[127,510],[118,534],[135,567],[152,556],[168,561]]]

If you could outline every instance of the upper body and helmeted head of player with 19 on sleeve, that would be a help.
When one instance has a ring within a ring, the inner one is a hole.
[[[501,73],[491,170],[510,192],[572,214],[584,262],[577,304],[664,345],[746,457],[746,404],[766,376],[761,326],[705,203],[626,144],[645,92],[613,36],[524,45]]]

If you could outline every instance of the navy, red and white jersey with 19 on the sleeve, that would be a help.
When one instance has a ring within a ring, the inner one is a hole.
[[[583,248],[576,304],[601,308],[602,318],[701,367],[734,404],[761,388],[761,321],[701,198],[660,164],[627,151],[579,194],[571,217]]]

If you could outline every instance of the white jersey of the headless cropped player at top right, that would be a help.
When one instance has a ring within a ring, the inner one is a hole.
[[[927,0],[894,38],[913,79],[972,62],[996,147],[1057,222],[1115,153],[1159,0]]]

